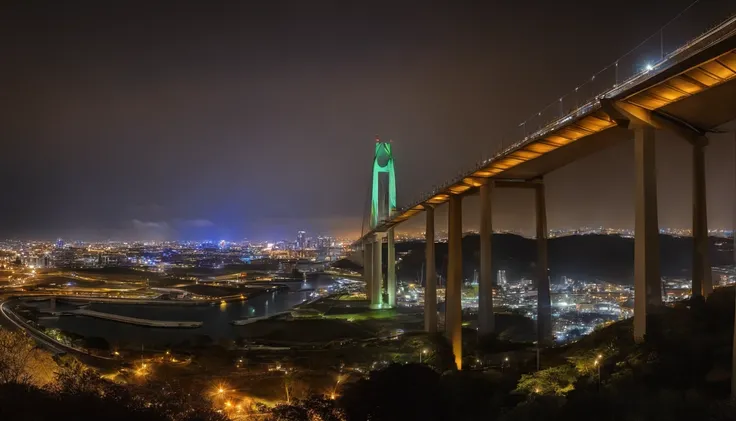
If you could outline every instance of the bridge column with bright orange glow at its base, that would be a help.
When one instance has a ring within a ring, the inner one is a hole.
[[[463,342],[462,342],[462,278],[463,278],[463,215],[462,197],[450,196],[448,212],[448,262],[447,287],[445,290],[445,332],[450,339],[452,352],[455,355],[455,365],[462,369]]]

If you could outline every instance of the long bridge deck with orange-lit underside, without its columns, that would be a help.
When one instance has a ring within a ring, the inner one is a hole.
[[[594,100],[482,162],[452,183],[364,235],[386,231],[451,195],[472,194],[488,179],[530,180],[633,137],[606,114],[600,99],[656,110],[710,130],[736,118],[736,16],[667,55],[649,71],[612,87]]]

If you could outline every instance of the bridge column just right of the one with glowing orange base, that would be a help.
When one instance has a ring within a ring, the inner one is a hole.
[[[480,186],[480,282],[478,285],[478,334],[488,335],[495,330],[493,318],[493,265],[491,194],[493,181]]]

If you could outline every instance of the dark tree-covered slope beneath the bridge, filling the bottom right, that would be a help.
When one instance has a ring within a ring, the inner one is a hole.
[[[642,344],[631,320],[548,350],[536,373],[438,373],[393,365],[332,401],[277,407],[276,420],[736,420],[729,399],[733,288],[651,317]],[[600,371],[599,371],[600,368]],[[599,374],[600,373],[600,374]]]

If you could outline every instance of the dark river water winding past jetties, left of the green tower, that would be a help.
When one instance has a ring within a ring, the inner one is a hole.
[[[235,339],[242,335],[242,332],[244,329],[248,329],[248,326],[233,326],[230,321],[287,311],[308,298],[309,292],[298,292],[300,289],[324,288],[332,283],[333,280],[329,276],[321,276],[309,282],[284,283],[289,285],[289,292],[267,293],[250,300],[231,301],[225,304],[217,303],[212,306],[112,303],[93,303],[89,306],[91,310],[143,319],[203,322],[203,326],[196,329],[151,328],[111,320],[71,316],[41,320],[40,324],[83,336],[103,337],[112,346],[119,347],[140,346],[142,344],[149,347],[163,347],[182,343],[185,340],[194,342],[196,338],[202,335],[207,335],[214,341]],[[59,305],[57,305],[57,308],[59,308]]]

